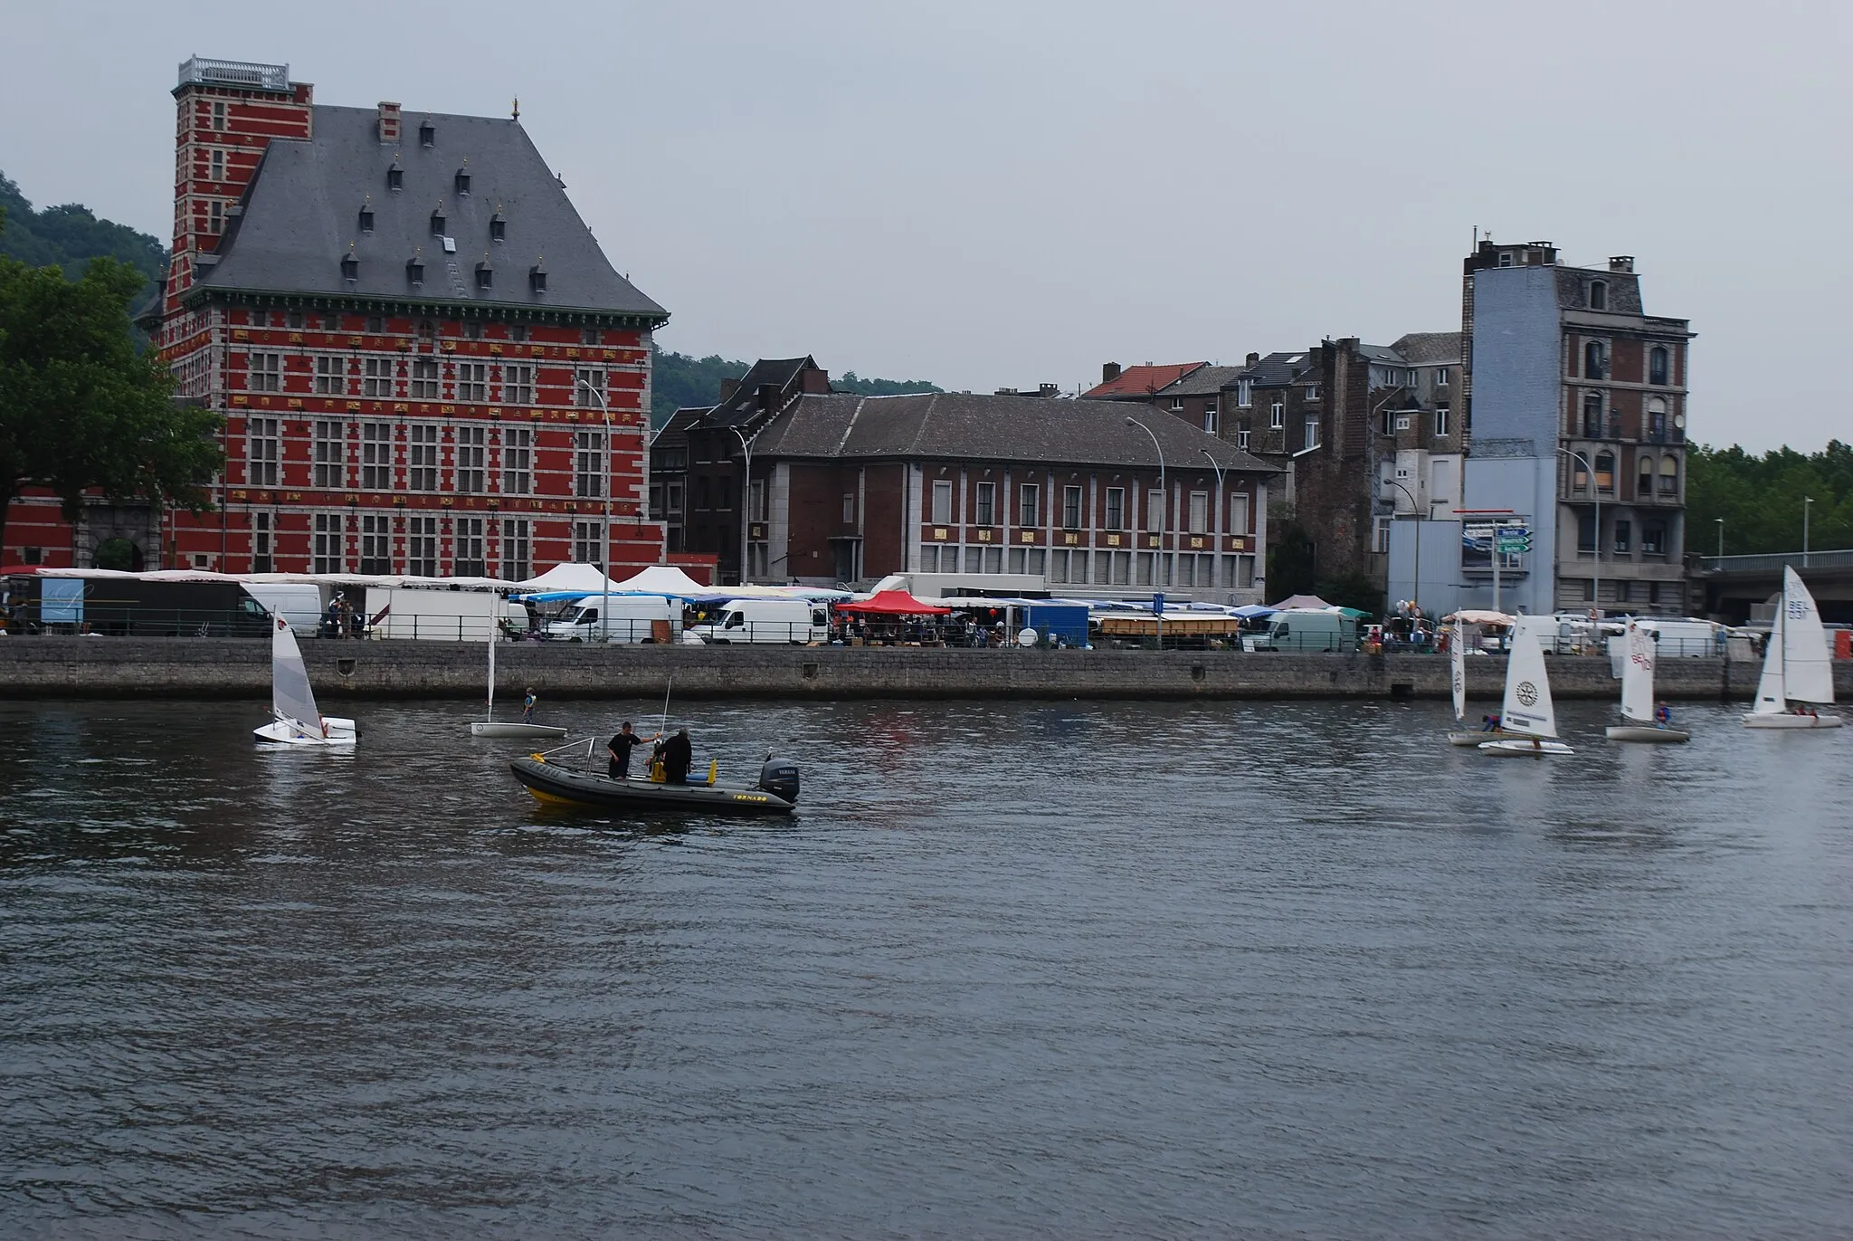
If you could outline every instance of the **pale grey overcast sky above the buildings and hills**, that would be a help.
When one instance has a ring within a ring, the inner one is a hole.
[[[167,239],[189,54],[521,117],[665,349],[990,391],[1460,326],[1634,254],[1692,432],[1849,436],[1846,4],[7,6],[0,171]]]

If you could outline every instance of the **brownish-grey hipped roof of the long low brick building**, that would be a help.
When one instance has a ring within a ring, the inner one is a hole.
[[[956,391],[906,397],[851,393],[799,397],[760,432],[754,456],[865,458],[936,456],[1060,466],[1156,467],[1153,440],[1169,469],[1203,469],[1204,451],[1223,469],[1277,473],[1227,440],[1180,417],[1128,410],[1117,401],[1051,401]]]

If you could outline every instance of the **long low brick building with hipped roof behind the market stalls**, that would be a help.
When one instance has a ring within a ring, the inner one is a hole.
[[[1004,573],[1067,595],[1247,603],[1266,590],[1277,473],[1123,403],[800,391],[754,441],[750,569],[806,584]]]

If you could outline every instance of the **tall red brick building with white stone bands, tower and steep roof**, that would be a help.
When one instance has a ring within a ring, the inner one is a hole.
[[[660,558],[643,460],[669,315],[517,119],[332,108],[284,65],[198,58],[174,96],[174,258],[148,323],[178,397],[224,416],[226,466],[217,512],[141,514],[148,568]],[[137,525],[98,514],[72,531],[28,497],[6,555],[87,564]]]

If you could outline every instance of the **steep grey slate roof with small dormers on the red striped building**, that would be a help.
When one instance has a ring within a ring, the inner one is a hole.
[[[274,139],[245,193],[243,215],[219,243],[219,262],[200,267],[200,289],[321,293],[334,297],[428,299],[530,310],[591,310],[667,321],[669,312],[617,275],[565,189],[519,121],[406,111],[402,141],[382,145],[371,108],[315,108],[315,137]],[[419,124],[435,126],[432,147]],[[387,189],[395,158],[404,189]],[[469,161],[471,191],[456,193]],[[359,211],[372,206],[372,234]],[[432,234],[443,202],[447,254]],[[489,239],[500,210],[506,239]],[[341,256],[359,258],[359,278],[341,276]],[[406,276],[413,254],[424,286]],[[489,289],[476,288],[476,263],[493,269]],[[545,262],[543,262],[545,260]],[[456,265],[456,278],[447,263]],[[534,293],[528,269],[543,263],[547,291]]]

